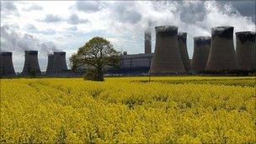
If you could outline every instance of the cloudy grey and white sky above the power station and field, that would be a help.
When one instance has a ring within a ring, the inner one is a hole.
[[[159,25],[187,32],[189,57],[195,36],[211,36],[211,28],[234,26],[255,31],[255,1],[1,1],[1,51],[13,52],[16,72],[24,67],[24,51],[39,51],[41,71],[47,55],[66,51],[68,58],[93,36],[109,40],[118,51],[144,52],[144,31],[152,28],[152,51]],[[234,39],[235,40],[235,39]]]

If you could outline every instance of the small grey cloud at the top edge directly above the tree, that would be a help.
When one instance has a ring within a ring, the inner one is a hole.
[[[77,1],[75,4],[75,7],[77,8],[78,11],[83,11],[83,12],[97,12],[101,9],[101,3],[99,2],[93,2],[93,1]]]

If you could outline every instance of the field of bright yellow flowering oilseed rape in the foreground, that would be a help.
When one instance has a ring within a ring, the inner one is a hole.
[[[0,142],[256,142],[255,77],[1,79]]]

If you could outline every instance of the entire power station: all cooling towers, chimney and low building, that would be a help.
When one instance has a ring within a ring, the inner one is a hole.
[[[189,59],[187,33],[178,32],[177,26],[157,26],[155,51],[152,53],[152,33],[145,31],[145,53],[120,56],[120,67],[109,67],[108,73],[118,74],[183,74],[221,71],[255,71],[255,32],[236,33],[236,51],[233,27],[211,28],[211,36],[194,37],[194,53]],[[24,51],[24,68],[21,75],[41,75],[38,51]],[[1,76],[14,76],[12,52],[0,54]],[[48,55],[45,75],[70,72],[67,69],[66,52],[56,51]]]

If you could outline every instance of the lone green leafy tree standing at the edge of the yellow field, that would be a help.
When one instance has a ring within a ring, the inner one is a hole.
[[[72,71],[86,70],[86,78],[104,81],[104,70],[119,64],[120,52],[115,51],[109,40],[93,37],[70,57]]]

